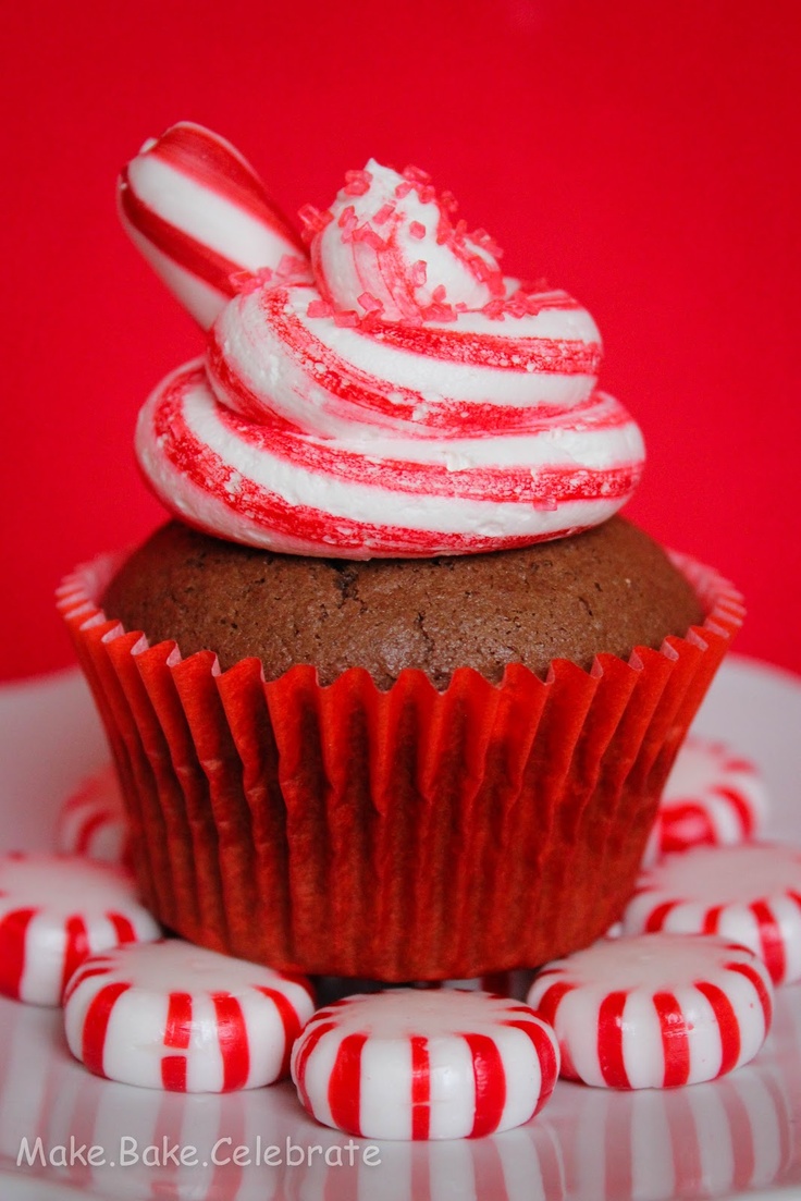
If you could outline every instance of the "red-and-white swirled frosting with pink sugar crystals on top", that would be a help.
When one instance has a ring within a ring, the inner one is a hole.
[[[205,162],[198,204],[210,186]],[[504,279],[453,214],[424,173],[370,162],[330,210],[301,210],[310,263],[281,249],[232,279],[205,359],[141,416],[168,508],[235,542],[370,558],[527,545],[628,500],[642,440],[594,390],[592,318]]]

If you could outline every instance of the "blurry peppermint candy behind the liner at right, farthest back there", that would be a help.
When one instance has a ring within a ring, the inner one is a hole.
[[[723,742],[689,737],[679,752],[659,807],[663,853],[699,844],[735,847],[759,833],[767,796],[757,766]]]

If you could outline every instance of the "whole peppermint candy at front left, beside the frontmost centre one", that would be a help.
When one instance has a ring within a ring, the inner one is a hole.
[[[175,938],[89,960],[67,986],[64,1021],[73,1056],[97,1076],[227,1093],[287,1075],[313,1010],[303,976]]]

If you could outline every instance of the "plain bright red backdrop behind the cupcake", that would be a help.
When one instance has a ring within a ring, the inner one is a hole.
[[[131,452],[199,349],[118,229],[119,166],[187,118],[288,213],[372,154],[453,190],[509,274],[579,297],[638,417],[629,514],[747,594],[801,670],[795,0],[7,6],[0,673],[61,667],[62,572],[162,518]]]

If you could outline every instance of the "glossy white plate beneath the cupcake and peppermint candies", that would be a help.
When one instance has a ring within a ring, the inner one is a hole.
[[[761,766],[775,805],[771,833],[801,843],[801,680],[731,657],[694,728]],[[0,688],[0,844],[49,846],[61,799],[104,758],[76,673]],[[348,1149],[346,1136],[315,1125],[289,1085],[181,1097],[102,1081],[71,1059],[58,1011],[0,998],[2,1201],[801,1197],[800,1119],[801,986],[779,991],[767,1044],[733,1076],[636,1093],[560,1082],[527,1127],[473,1142],[373,1145],[373,1166],[363,1160],[370,1143],[354,1140]],[[37,1136],[46,1163],[36,1155],[18,1165],[22,1140],[35,1151]],[[68,1158],[71,1137],[76,1147],[102,1148],[95,1155],[107,1163],[84,1166],[73,1157],[60,1166],[59,1148]],[[149,1159],[166,1158],[165,1140],[185,1155],[197,1148],[197,1165],[147,1164],[145,1148]],[[286,1163],[287,1140],[300,1163]],[[217,1159],[241,1146],[251,1163],[215,1164],[215,1143]],[[270,1146],[281,1164],[264,1163]],[[120,1166],[121,1147],[139,1161]]]

